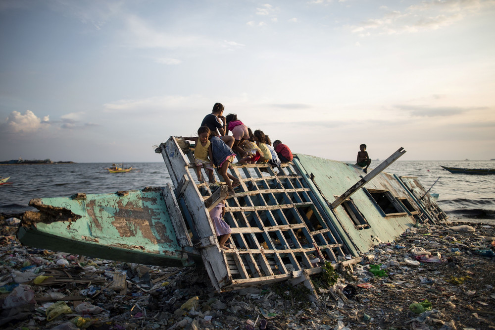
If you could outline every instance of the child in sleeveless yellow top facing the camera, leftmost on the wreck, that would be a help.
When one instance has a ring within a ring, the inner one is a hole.
[[[198,128],[198,137],[185,137],[184,140],[194,141],[196,147],[194,148],[194,162],[196,163],[196,174],[198,175],[198,181],[203,182],[201,177],[201,167],[204,166],[208,172],[208,182],[216,182],[213,175],[213,157],[211,155],[211,142],[208,140],[210,136],[210,129],[206,126]]]

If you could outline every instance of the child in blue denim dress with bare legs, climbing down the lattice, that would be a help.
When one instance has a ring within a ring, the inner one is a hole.
[[[223,180],[229,188],[229,196],[232,196],[235,194],[234,188],[241,184],[238,178],[227,172],[236,154],[234,154],[232,149],[220,137],[215,135],[215,132],[211,133],[210,142],[213,165],[219,169],[220,175],[222,175]]]

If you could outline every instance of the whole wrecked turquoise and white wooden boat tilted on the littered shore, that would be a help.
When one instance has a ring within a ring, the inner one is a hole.
[[[445,213],[416,177],[383,172],[400,148],[364,177],[360,167],[295,154],[293,162],[229,169],[241,184],[195,181],[194,147],[170,137],[155,150],[173,186],[31,200],[22,244],[145,265],[204,265],[217,291],[277,281],[304,283],[321,266],[347,267],[416,223]],[[263,171],[262,171],[263,169]],[[217,174],[218,175],[218,174]],[[220,248],[209,210],[227,198],[229,249]]]

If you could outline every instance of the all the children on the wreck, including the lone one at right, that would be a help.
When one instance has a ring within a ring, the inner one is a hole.
[[[208,182],[216,182],[213,167],[218,168],[228,187],[229,197],[235,194],[234,188],[241,184],[240,180],[229,173],[235,157],[239,157],[237,164],[268,164],[271,167],[280,166],[293,160],[291,149],[280,140],[273,142],[263,131],[257,129],[254,132],[237,118],[237,114],[230,113],[223,116],[224,107],[220,103],[213,106],[210,114],[206,115],[198,128],[198,137],[185,137],[185,140],[194,141],[196,147],[194,157],[198,181],[202,182],[201,168],[208,173]],[[232,136],[229,136],[229,131]],[[365,167],[367,173],[371,160],[365,151],[366,145],[360,146],[357,154],[356,165]],[[238,155],[236,155],[236,152]],[[260,170],[267,171],[266,168]],[[231,182],[232,181],[232,182]],[[210,211],[210,219],[213,222],[216,236],[221,248],[228,249],[225,245],[232,229],[222,219],[225,214],[225,200],[218,203]]]

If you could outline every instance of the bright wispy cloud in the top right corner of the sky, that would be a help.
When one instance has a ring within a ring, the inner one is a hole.
[[[403,11],[381,6],[380,9],[385,11],[382,17],[368,19],[349,28],[352,33],[357,33],[362,37],[371,34],[402,34],[437,30],[493,7],[495,7],[493,0],[425,0]]]

